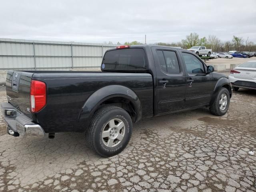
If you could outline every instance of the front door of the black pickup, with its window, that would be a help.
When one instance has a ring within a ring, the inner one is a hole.
[[[212,74],[206,73],[206,65],[194,54],[181,54],[186,70],[186,108],[209,104],[214,90]]]

